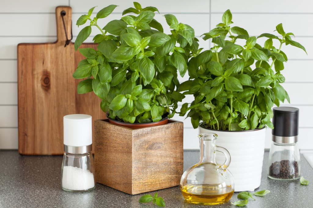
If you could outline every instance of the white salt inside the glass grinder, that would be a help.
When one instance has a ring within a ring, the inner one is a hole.
[[[87,190],[95,186],[94,175],[89,170],[64,166],[62,187],[67,190]]]

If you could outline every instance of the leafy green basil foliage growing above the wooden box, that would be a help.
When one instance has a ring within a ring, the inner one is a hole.
[[[93,91],[102,99],[101,109],[115,120],[147,123],[167,115],[172,118],[177,102],[185,97],[177,90],[177,76],[186,73],[198,40],[192,27],[179,23],[174,15],[164,15],[172,29],[171,34],[165,34],[154,19],[156,7],[142,8],[137,2],[134,6],[124,10],[122,15],[128,15],[104,27],[97,21],[110,15],[116,5],[101,9],[92,18],[93,7],[77,20],[78,26],[87,21],[90,25],[79,32],[75,50],[90,36],[92,28],[100,31],[93,38],[99,44],[97,50],[78,49],[86,59],[80,61],[73,77],[87,78],[79,83],[78,93]]]

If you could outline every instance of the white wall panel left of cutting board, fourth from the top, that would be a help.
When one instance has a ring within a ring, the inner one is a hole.
[[[0,82],[17,82],[17,68],[16,60],[0,60]]]

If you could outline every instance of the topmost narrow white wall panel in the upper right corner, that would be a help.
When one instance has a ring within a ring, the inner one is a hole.
[[[251,0],[240,0],[234,3],[232,0],[223,1],[211,1],[211,12],[225,12],[230,9],[231,12],[312,12],[313,2],[312,1],[251,1]]]

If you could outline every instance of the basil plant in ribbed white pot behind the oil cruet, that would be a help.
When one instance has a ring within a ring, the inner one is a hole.
[[[281,85],[287,61],[282,46],[305,48],[292,40],[294,34],[286,33],[282,24],[276,26],[278,35],[255,37],[232,23],[227,10],[222,23],[203,34],[213,47],[188,62],[190,80],[180,85],[180,91],[193,94],[194,100],[182,104],[180,115],[190,110],[187,117],[193,128],[218,134],[216,144],[231,155],[229,170],[235,178],[235,191],[250,191],[260,185],[265,126],[273,128],[272,107],[290,102]],[[259,45],[257,40],[264,38],[264,46]]]

